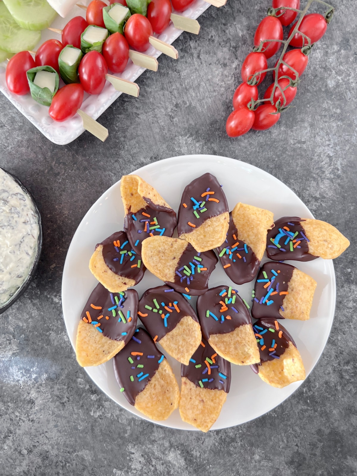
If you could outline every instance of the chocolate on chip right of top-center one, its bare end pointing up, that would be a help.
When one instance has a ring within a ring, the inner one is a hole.
[[[226,249],[224,255],[220,256],[219,259],[223,267],[229,265],[228,268],[223,268],[228,278],[236,284],[244,284],[254,279],[258,273],[260,261],[252,248],[248,245],[244,246],[246,243],[241,239],[238,240],[237,236],[238,231],[232,218],[232,212],[230,212],[226,241],[216,249],[218,255]],[[231,251],[232,249],[233,251]]]

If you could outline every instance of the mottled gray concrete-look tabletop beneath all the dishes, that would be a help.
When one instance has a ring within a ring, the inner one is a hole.
[[[121,96],[102,115],[104,144],[86,132],[56,146],[0,97],[0,165],[30,189],[44,229],[36,278],[0,316],[1,475],[357,474],[356,2],[335,0],[294,108],[267,132],[229,139],[230,101],[268,3],[209,8],[199,36],[176,41],[179,60],[161,57],[157,74],[139,78],[139,99]],[[101,393],[76,363],[60,294],[69,242],[93,202],[121,175],[190,153],[267,170],[351,240],[335,260],[335,321],[307,381],[264,417],[207,435],[156,426]]]

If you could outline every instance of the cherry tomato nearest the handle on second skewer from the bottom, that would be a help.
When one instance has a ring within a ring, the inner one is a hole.
[[[89,51],[79,63],[79,80],[88,94],[99,94],[102,91],[107,73],[107,63],[98,51]]]

